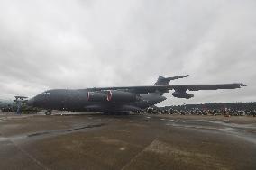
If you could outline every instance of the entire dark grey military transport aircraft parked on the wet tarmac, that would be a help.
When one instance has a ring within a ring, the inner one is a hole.
[[[235,89],[246,86],[239,83],[219,85],[169,85],[171,80],[186,76],[160,76],[155,85],[150,86],[120,86],[95,87],[86,89],[52,89],[38,94],[28,101],[28,105],[51,110],[72,112],[104,112],[123,113],[139,111],[166,100],[164,93],[174,90],[172,95],[178,98],[189,99],[193,94],[189,91]]]

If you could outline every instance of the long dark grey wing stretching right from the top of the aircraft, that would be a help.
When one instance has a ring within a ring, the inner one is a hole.
[[[137,94],[147,94],[152,92],[169,92],[169,90],[179,91],[198,91],[198,90],[217,90],[217,89],[235,89],[241,88],[241,83],[234,84],[216,84],[216,85],[149,85],[149,86],[119,86],[119,87],[100,87],[88,88],[90,91],[105,91],[105,90],[124,90]]]

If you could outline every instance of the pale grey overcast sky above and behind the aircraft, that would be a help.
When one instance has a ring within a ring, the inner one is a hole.
[[[162,105],[256,101],[255,0],[0,0],[0,97],[242,82]]]

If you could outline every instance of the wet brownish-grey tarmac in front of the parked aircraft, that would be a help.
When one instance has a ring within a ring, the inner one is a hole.
[[[0,169],[255,170],[256,118],[2,112]]]

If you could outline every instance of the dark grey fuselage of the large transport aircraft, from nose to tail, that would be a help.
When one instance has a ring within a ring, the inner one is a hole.
[[[53,89],[36,95],[28,104],[47,110],[124,112],[138,111],[166,100],[166,97],[158,93],[149,93],[138,94],[138,100],[134,102],[112,102],[107,101],[106,98],[104,101],[93,102],[87,101],[88,91],[87,89]]]

